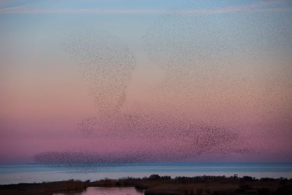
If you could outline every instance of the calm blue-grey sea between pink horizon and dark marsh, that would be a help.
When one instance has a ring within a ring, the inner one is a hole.
[[[144,163],[144,164],[74,164],[74,165],[2,165],[0,184],[59,181],[64,179],[161,176],[255,176],[292,177],[292,163]]]

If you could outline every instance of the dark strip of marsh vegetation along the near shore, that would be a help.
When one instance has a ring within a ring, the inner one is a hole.
[[[292,178],[250,176],[170,176],[151,175],[97,181],[67,180],[42,183],[0,185],[0,195],[52,195],[60,192],[83,192],[88,187],[135,187],[145,195],[292,195]]]

